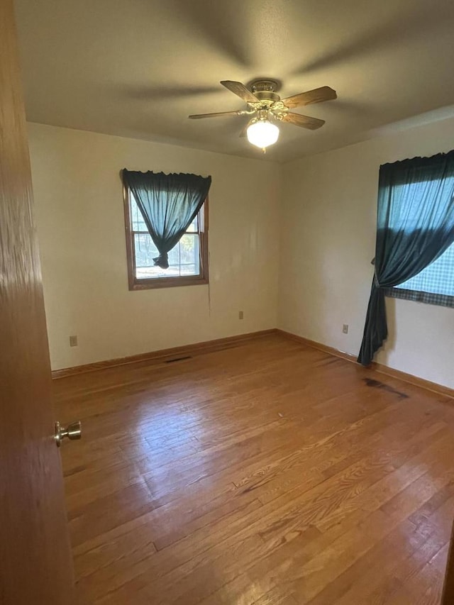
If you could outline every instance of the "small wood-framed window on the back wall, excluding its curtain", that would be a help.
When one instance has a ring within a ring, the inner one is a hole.
[[[170,250],[168,269],[155,266],[153,259],[159,252],[133,194],[126,187],[124,201],[130,290],[208,283],[208,199]]]

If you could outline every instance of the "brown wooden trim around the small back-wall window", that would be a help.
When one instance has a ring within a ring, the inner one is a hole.
[[[204,201],[203,221],[199,221],[200,274],[181,277],[154,277],[138,279],[135,277],[135,254],[133,230],[131,228],[131,201],[129,189],[123,185],[123,206],[125,215],[126,261],[128,265],[128,286],[130,290],[148,290],[155,288],[175,288],[180,286],[199,286],[209,283],[208,267],[208,197]]]

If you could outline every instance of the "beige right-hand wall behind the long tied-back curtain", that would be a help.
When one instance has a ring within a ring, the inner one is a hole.
[[[284,166],[280,328],[358,353],[373,274],[380,164],[452,148],[454,119]],[[387,299],[387,311],[390,337],[377,361],[454,387],[454,309]]]

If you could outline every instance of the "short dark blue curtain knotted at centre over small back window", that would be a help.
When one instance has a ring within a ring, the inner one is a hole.
[[[168,252],[177,245],[208,196],[211,177],[196,174],[122,171],[159,252],[155,265],[167,269]]]

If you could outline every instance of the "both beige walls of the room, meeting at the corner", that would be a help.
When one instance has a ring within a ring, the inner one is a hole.
[[[284,167],[38,124],[29,135],[58,369],[275,326],[358,353],[380,164],[450,150],[454,119]],[[123,167],[212,175],[211,296],[206,286],[128,291]],[[387,309],[390,336],[377,360],[454,387],[454,310],[394,299]]]

